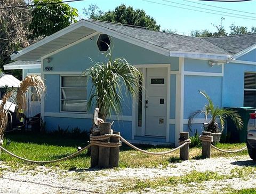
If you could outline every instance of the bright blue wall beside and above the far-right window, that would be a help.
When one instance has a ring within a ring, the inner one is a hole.
[[[244,72],[256,72],[251,64],[228,63],[224,66],[223,107],[242,107],[244,104]]]

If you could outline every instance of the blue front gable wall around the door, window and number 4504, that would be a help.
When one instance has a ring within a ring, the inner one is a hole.
[[[51,61],[48,63],[46,60],[43,61],[43,71],[45,67],[52,67],[52,71],[65,71],[72,74],[73,71],[84,71],[90,68],[95,62],[105,61],[105,55],[99,52],[96,41],[98,37],[93,40],[86,40],[78,43],[72,47],[67,48],[59,53],[50,56]],[[112,44],[111,50],[113,58],[123,57],[131,64],[171,64],[170,69],[172,71],[179,70],[179,58],[169,58],[161,54],[146,50],[145,48],[134,46],[130,43],[126,43],[116,38],[111,38]],[[94,61],[94,62],[92,62]],[[61,74],[61,73],[60,73]],[[60,75],[58,74],[45,74],[45,84],[47,91],[45,95],[45,112],[59,113],[60,112]],[[171,94],[171,118],[175,117],[175,75],[171,76],[171,90],[174,90]],[[87,85],[87,98],[91,90],[91,83]],[[126,94],[123,88],[122,92],[123,106],[121,115],[132,116],[132,98]],[[90,114],[94,107],[88,112]],[[57,117],[45,117],[46,123],[53,122],[54,124],[47,125],[46,129],[58,127],[57,123],[61,123],[62,120],[69,120],[69,125],[73,123],[79,124],[79,128],[82,127],[84,119],[76,118],[62,118]],[[85,119],[86,120],[86,119]],[[78,122],[76,122],[78,121]],[[57,123],[55,123],[57,122]],[[120,121],[123,122],[123,121]],[[131,139],[132,122],[115,122],[114,126],[120,129],[124,136]],[[80,125],[81,123],[81,125]],[[63,122],[63,125],[67,125],[67,122]],[[81,127],[80,127],[81,126]],[[76,126],[74,126],[76,127]]]

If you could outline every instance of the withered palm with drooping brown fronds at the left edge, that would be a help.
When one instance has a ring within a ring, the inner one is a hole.
[[[30,86],[33,86],[35,88],[35,91],[38,94],[39,98],[41,98],[42,94],[45,92],[45,85],[40,76],[30,75],[25,77],[25,79],[23,79],[20,83],[17,95],[14,98],[14,102],[17,103],[19,110],[25,111],[27,108],[26,93],[28,92]],[[2,103],[0,104],[0,135],[2,137],[8,124],[8,109],[10,108],[7,107],[6,102],[10,98],[13,98],[14,92],[15,91],[13,88],[10,91],[7,91],[2,98]]]

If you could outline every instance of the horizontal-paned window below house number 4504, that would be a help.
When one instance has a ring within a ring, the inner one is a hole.
[[[61,76],[61,108],[63,112],[86,112],[87,79],[82,76]]]

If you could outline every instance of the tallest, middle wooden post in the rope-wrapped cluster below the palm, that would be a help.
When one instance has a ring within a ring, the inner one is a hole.
[[[111,123],[101,123],[100,124],[100,135],[109,134],[111,130]],[[107,140],[101,140],[102,142],[109,142],[110,138]],[[110,148],[99,147],[99,168],[109,168],[109,156]]]

